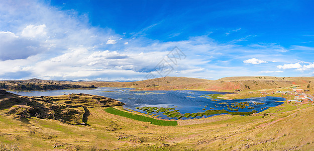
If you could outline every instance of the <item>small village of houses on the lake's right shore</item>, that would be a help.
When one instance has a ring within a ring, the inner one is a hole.
[[[288,95],[288,96],[294,96],[294,99],[292,100],[287,100],[287,104],[289,103],[311,103],[314,105],[314,97],[311,94],[306,94],[305,92],[308,92],[309,90],[303,90],[303,89],[297,89],[294,87],[292,91],[275,91],[271,93],[265,93],[261,92],[262,95],[269,95],[269,94],[282,94],[283,95]]]

